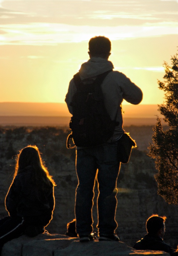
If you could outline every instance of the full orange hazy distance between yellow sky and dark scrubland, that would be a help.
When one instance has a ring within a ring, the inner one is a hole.
[[[155,125],[157,105],[122,105],[124,126]],[[71,114],[66,103],[0,102],[0,125],[67,126]],[[164,122],[163,122],[164,123]]]

